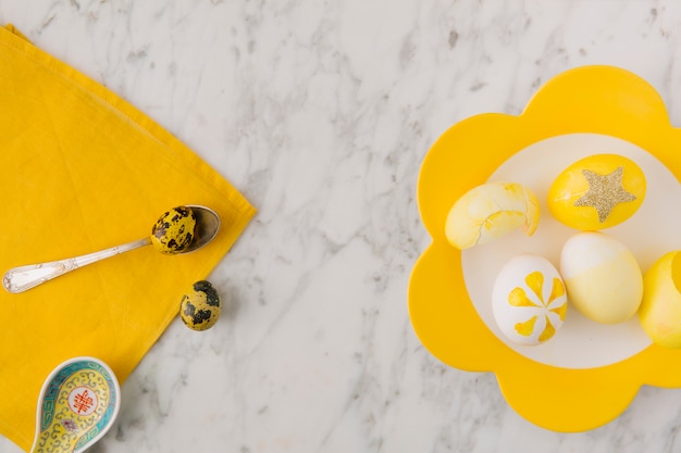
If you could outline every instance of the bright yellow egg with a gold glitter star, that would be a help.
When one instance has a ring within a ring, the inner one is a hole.
[[[595,231],[631,217],[645,191],[645,175],[635,162],[618,154],[595,154],[558,175],[548,189],[547,204],[562,224]]]

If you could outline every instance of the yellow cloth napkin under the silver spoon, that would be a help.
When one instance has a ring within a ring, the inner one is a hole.
[[[145,247],[24,293],[0,289],[0,433],[28,450],[48,374],[90,355],[123,382],[255,209],[171,134],[12,26],[0,27],[0,274],[144,238],[176,205],[222,218],[194,253]]]

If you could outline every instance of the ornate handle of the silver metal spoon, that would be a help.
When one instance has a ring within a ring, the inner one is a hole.
[[[149,246],[150,238],[139,239],[123,246],[112,247],[111,249],[100,250],[99,252],[88,253],[76,257],[65,260],[51,261],[49,263],[29,264],[26,266],[14,267],[8,270],[2,278],[2,286],[9,292],[17,293],[37,287],[52,278],[64,275],[67,272],[77,269],[87,264],[115,256],[120,253],[137,249],[139,247]]]

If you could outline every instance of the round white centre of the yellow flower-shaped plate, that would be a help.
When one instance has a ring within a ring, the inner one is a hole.
[[[553,180],[571,163],[600,153],[627,156],[646,176],[646,197],[639,211],[624,223],[603,230],[620,240],[636,257],[642,272],[671,250],[681,250],[681,185],[674,175],[645,150],[628,141],[596,134],[573,134],[536,142],[513,154],[488,181],[515,181],[529,187],[540,200],[541,219],[531,238],[520,230],[491,244],[462,252],[463,277],[469,295],[485,325],[509,348],[536,362],[564,368],[606,366],[635,355],[651,344],[637,316],[617,325],[587,319],[568,307],[562,328],[546,343],[536,347],[510,342],[498,329],[492,314],[491,293],[504,264],[520,253],[536,253],[559,269],[560,249],[577,230],[556,221],[546,204]]]

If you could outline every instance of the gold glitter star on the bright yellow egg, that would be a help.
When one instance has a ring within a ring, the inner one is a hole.
[[[598,212],[600,223],[608,218],[617,204],[636,199],[636,196],[624,190],[622,186],[624,169],[621,166],[607,175],[599,175],[590,169],[582,169],[582,174],[586,178],[589,190],[574,202],[574,205],[594,207]]]

